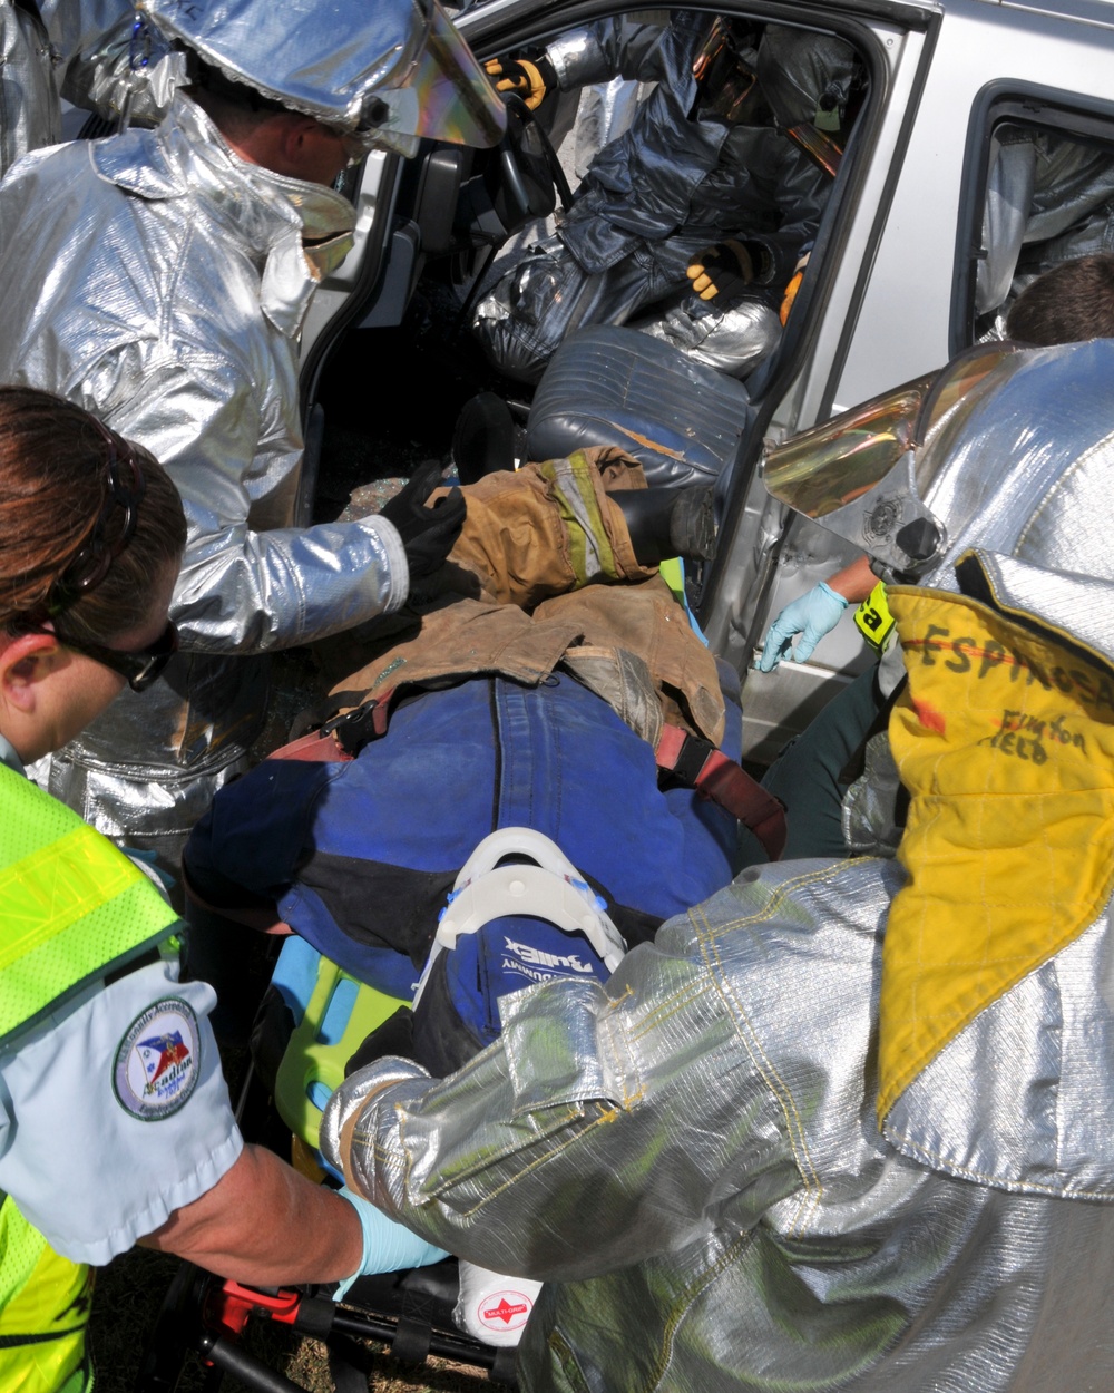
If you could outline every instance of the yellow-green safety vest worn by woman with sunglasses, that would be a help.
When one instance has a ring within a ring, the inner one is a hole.
[[[109,840],[0,766],[0,1046],[164,942],[175,914]],[[92,1275],[0,1202],[0,1389],[81,1393]]]

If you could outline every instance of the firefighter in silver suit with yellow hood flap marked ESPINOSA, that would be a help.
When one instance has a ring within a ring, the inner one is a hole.
[[[969,549],[891,593],[900,864],[748,869],[326,1109],[350,1185],[544,1282],[529,1393],[1114,1378],[1114,341],[989,354],[919,500]]]

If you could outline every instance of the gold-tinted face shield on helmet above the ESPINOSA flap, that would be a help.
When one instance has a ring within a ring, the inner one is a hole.
[[[925,499],[951,442],[1018,352],[1015,344],[979,344],[939,373],[794,436],[764,456],[767,490],[893,575],[925,574],[948,545]]]

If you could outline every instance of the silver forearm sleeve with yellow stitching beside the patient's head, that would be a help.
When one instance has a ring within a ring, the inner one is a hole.
[[[635,949],[607,992],[504,999],[500,1041],[444,1081],[345,1081],[341,1095],[370,1092],[350,1184],[451,1252],[544,1280],[677,1250],[723,1226],[724,1204],[731,1227],[753,1226],[799,1174],[773,1091],[680,937]]]

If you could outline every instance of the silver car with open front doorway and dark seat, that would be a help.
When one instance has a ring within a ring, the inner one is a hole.
[[[627,22],[666,24],[674,13],[641,11]],[[461,326],[494,259],[551,233],[575,194],[585,164],[576,141],[590,139],[600,120],[596,85],[563,92],[547,116],[539,109],[512,121],[497,150],[426,146],[416,160],[368,162],[351,189],[358,247],[317,294],[302,387],[306,415],[324,401],[326,442],[344,423],[337,403],[345,391],[352,419],[368,419],[366,403],[351,403],[354,382],[376,403],[372,446],[390,419],[427,453],[448,449],[448,426],[444,439],[423,435],[439,400],[455,408],[494,387],[533,457],[535,437],[551,440],[540,428],[556,411],[581,439],[603,421],[621,437],[660,446],[659,457],[689,453],[698,474],[714,472],[720,552],[691,578],[691,593],[713,648],[745,676],[745,752],[763,763],[872,657],[856,628],[841,623],[809,662],[756,671],[771,618],[855,556],[767,493],[763,449],[1000,334],[1004,308],[1035,274],[1114,242],[1114,11],[1095,0],[827,0],[724,4],[717,14],[834,35],[855,54],[856,98],[837,135],[808,266],[780,341],[759,366],[742,380],[727,376],[632,323],[609,327],[595,359],[563,344],[561,372],[547,369],[536,389],[485,379],[482,357],[469,357]],[[615,7],[563,0],[487,0],[457,14],[482,60],[560,49],[586,24],[610,20]],[[622,102],[636,109],[652,91],[628,81]],[[344,389],[336,387],[340,361]],[[391,386],[400,362],[401,397]],[[324,458],[327,469],[327,449]],[[311,493],[312,481],[308,507]]]

